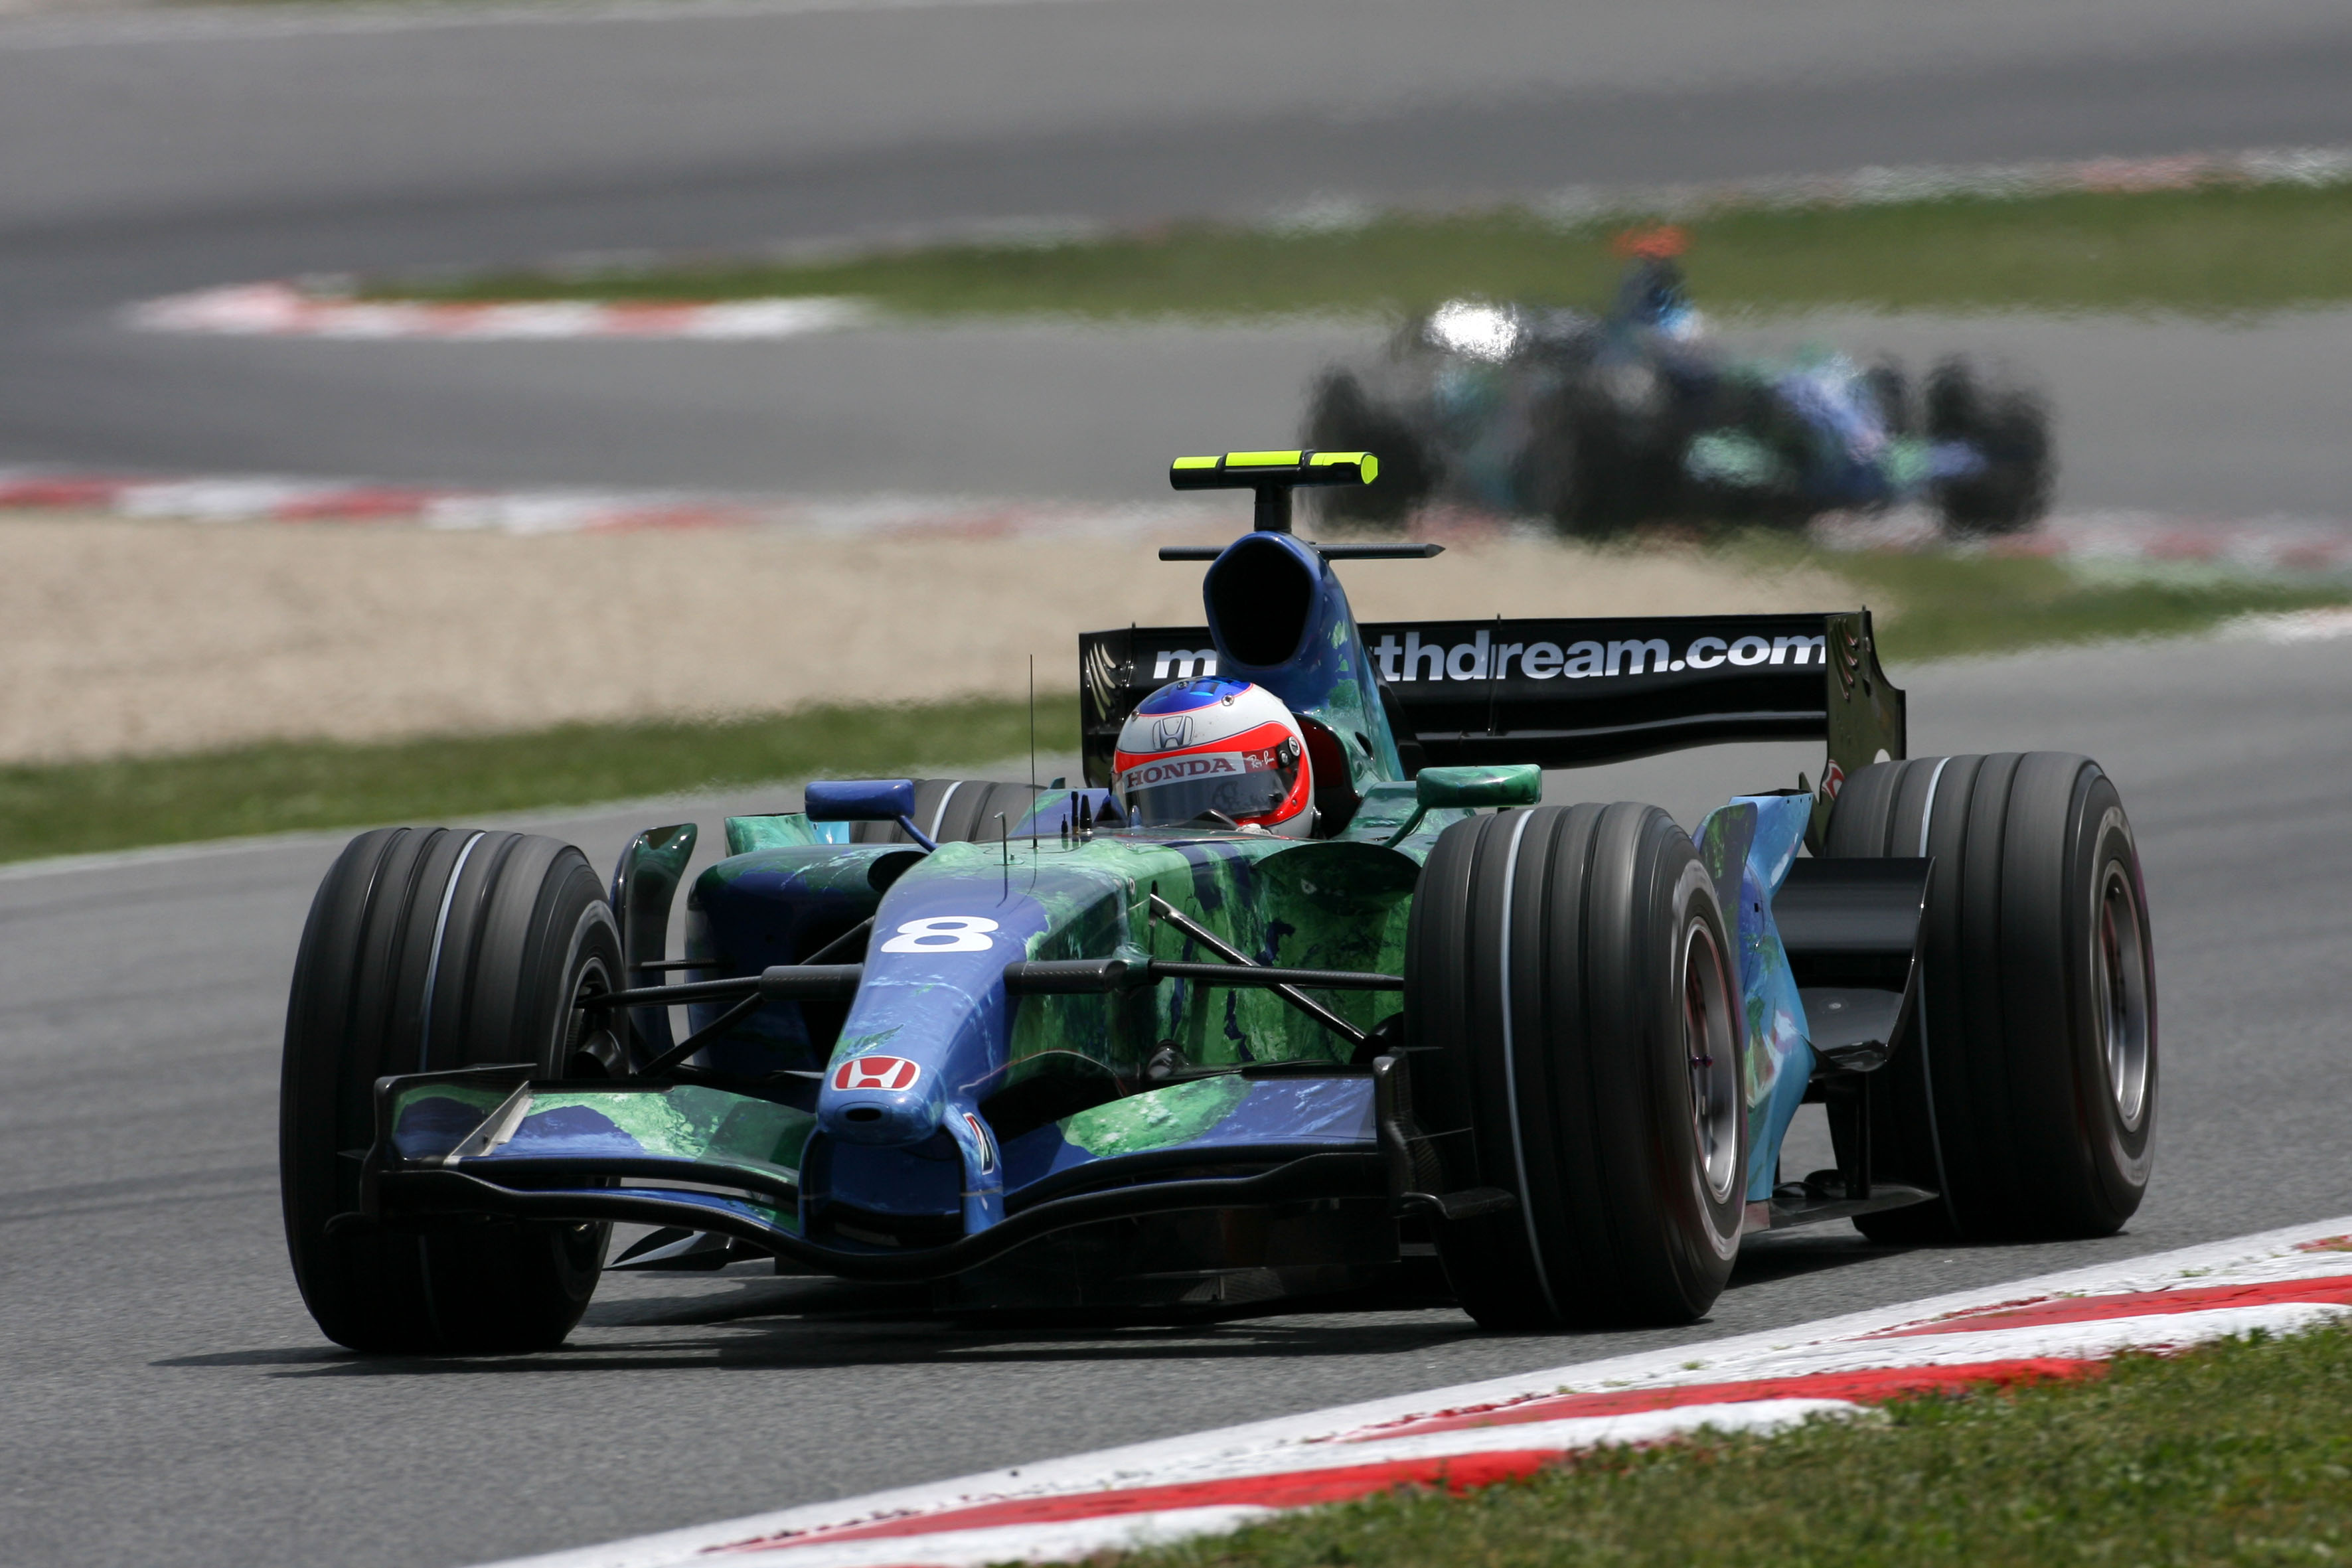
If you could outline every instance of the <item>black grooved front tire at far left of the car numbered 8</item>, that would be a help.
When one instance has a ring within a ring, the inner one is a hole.
[[[423,1234],[336,1227],[360,1206],[383,1074],[595,1060],[579,997],[619,990],[621,931],[581,851],[520,832],[379,827],[310,903],[287,1001],[278,1168],[310,1316],[360,1352],[562,1345],[607,1225],[482,1220]],[[607,1051],[609,1056],[609,1051]]]

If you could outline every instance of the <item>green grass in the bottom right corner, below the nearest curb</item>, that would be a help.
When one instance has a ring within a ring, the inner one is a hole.
[[[2082,1385],[1606,1450],[1468,1497],[1392,1493],[1122,1568],[2340,1563],[2352,1335],[2126,1356]]]

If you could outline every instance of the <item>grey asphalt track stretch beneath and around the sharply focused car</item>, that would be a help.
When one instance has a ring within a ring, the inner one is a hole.
[[[1679,1333],[1484,1338],[1409,1307],[1183,1331],[854,1321],[731,1272],[612,1279],[550,1356],[358,1361],[303,1316],[270,1168],[285,983],[334,844],[0,879],[0,1540],[21,1563],[463,1563],[2343,1213],[2347,677],[2352,642],[1907,672],[1915,752],[2070,748],[2122,783],[2164,997],[2154,1192],[2098,1244],[1766,1237]],[[1783,783],[1795,752],[1729,762],[1555,792],[1689,816]],[[548,827],[604,860],[661,816]]]

